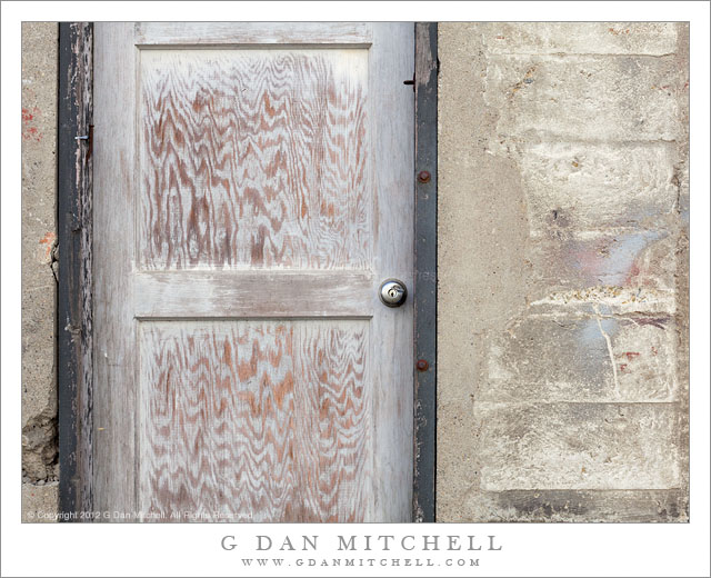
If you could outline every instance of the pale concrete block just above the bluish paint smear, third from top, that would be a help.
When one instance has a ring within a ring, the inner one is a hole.
[[[522,143],[520,152],[534,239],[552,221],[574,231],[654,229],[677,210],[674,143]]]

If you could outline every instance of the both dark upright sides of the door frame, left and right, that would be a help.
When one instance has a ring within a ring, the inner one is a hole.
[[[437,437],[437,22],[414,24],[413,521],[434,521]],[[93,24],[59,24],[57,387],[59,511],[92,511]],[[404,79],[403,79],[404,80]],[[61,518],[60,518],[61,519]]]

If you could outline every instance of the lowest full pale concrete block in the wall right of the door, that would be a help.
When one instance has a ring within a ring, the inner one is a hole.
[[[673,403],[477,403],[480,488],[670,489],[680,485]]]

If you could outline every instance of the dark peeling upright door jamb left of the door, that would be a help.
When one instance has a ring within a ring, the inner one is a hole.
[[[93,23],[59,23],[57,108],[57,390],[59,512],[92,508],[92,72]]]

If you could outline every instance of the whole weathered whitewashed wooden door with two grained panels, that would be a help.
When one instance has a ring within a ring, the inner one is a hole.
[[[98,23],[94,54],[96,509],[409,520],[412,307],[378,290],[412,286],[413,26]]]

